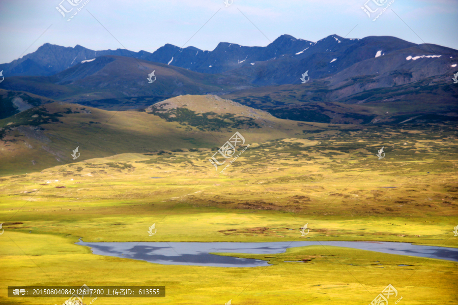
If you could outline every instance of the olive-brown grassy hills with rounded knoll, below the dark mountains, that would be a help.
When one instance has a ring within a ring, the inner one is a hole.
[[[235,131],[249,142],[259,142],[302,135],[303,130],[336,129],[278,119],[215,96],[180,96],[156,105],[170,102],[181,106],[107,111],[53,102],[1,119],[0,172],[18,174],[63,165],[72,161],[76,147],[81,161],[123,153],[219,147]],[[177,110],[179,115],[172,113]]]

